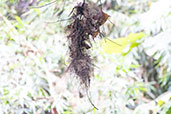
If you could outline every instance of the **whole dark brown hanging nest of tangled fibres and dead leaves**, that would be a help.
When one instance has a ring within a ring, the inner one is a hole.
[[[100,26],[108,15],[95,3],[79,3],[71,12],[72,23],[67,26],[71,63],[69,70],[76,74],[81,84],[90,86],[93,74],[93,60],[89,55],[91,39],[100,33]]]

